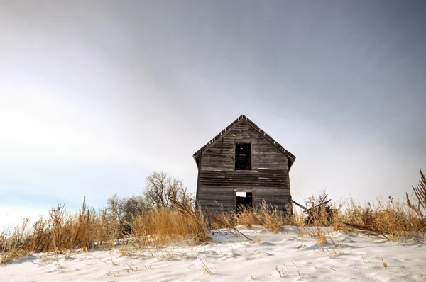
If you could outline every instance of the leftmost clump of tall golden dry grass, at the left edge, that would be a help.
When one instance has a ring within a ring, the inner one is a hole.
[[[106,241],[101,217],[89,210],[86,201],[75,214],[67,213],[63,205],[50,210],[50,218],[40,218],[28,228],[28,220],[13,232],[0,235],[0,262],[15,259],[31,252],[60,252],[81,248],[87,251],[96,242]],[[112,238],[111,238],[112,239]]]

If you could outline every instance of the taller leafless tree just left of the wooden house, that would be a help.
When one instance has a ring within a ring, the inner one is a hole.
[[[146,202],[153,208],[174,208],[175,202],[192,204],[193,194],[179,179],[170,177],[165,171],[154,172],[146,177]]]

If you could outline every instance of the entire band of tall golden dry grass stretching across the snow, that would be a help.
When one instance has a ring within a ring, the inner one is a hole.
[[[122,232],[119,222],[111,219],[107,210],[95,211],[87,208],[84,198],[82,208],[68,213],[63,205],[50,210],[49,218],[40,218],[32,227],[28,220],[11,232],[0,233],[0,263],[18,258],[31,252],[67,252],[80,249],[87,252],[92,248],[112,248],[115,244],[133,242],[140,247],[163,247],[172,242],[208,242],[209,230],[232,228],[236,225],[261,225],[264,230],[281,232],[283,225],[293,225],[300,236],[315,236],[320,243],[331,236],[324,231],[361,232],[390,241],[413,239],[426,241],[426,178],[421,174],[420,182],[413,187],[414,194],[406,201],[386,201],[361,205],[350,199],[346,205],[332,203],[330,215],[324,207],[313,208],[312,218],[306,220],[302,210],[289,206],[293,213],[283,213],[276,206],[262,203],[258,208],[243,208],[240,213],[222,212],[206,217],[188,203],[174,202],[173,208],[146,208],[131,215],[131,232],[120,240]],[[332,228],[330,228],[332,227]]]

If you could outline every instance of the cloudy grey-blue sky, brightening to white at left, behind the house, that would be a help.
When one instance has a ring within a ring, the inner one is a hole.
[[[244,114],[293,198],[403,198],[426,171],[424,1],[0,0],[0,227],[102,208]],[[1,229],[1,228],[0,228]]]

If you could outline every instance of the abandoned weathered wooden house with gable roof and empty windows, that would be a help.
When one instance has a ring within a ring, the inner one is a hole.
[[[197,203],[219,212],[258,207],[285,210],[291,203],[289,171],[295,156],[245,115],[193,155],[198,167]]]

